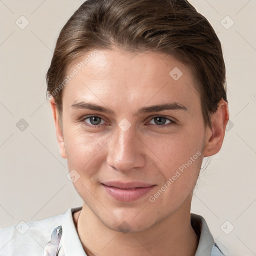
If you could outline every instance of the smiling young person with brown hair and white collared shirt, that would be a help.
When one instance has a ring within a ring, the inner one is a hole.
[[[83,205],[0,230],[0,255],[223,255],[190,212],[228,121],[221,44],[186,0],[87,0],[47,71],[61,156]]]

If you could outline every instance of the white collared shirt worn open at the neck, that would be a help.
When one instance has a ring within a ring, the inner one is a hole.
[[[87,256],[77,234],[72,213],[82,208],[69,208],[64,214],[43,220],[19,222],[0,229],[0,256]],[[195,256],[223,256],[209,231],[205,219]]]

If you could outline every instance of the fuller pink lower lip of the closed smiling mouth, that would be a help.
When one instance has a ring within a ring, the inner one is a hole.
[[[149,191],[151,191],[151,189],[155,185],[147,186],[147,187],[136,187],[134,189],[121,189],[118,187],[107,186],[104,184],[102,184],[102,186],[116,200],[123,201],[123,202],[131,202],[147,194]]]

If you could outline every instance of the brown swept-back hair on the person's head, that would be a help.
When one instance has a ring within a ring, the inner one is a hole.
[[[89,50],[116,46],[165,53],[186,64],[196,81],[204,124],[211,127],[218,101],[227,102],[225,64],[212,26],[187,0],[83,2],[61,29],[46,74],[47,91],[60,116],[61,88],[70,64]]]

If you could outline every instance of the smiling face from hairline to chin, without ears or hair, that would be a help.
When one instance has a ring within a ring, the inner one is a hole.
[[[208,138],[193,75],[152,51],[86,55],[63,88],[61,155],[102,223],[145,230],[190,207]]]

